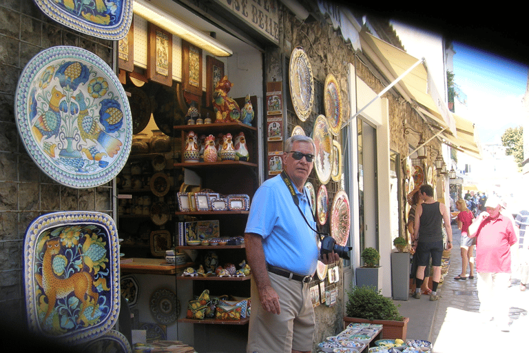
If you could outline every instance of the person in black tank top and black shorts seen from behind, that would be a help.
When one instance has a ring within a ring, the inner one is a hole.
[[[452,226],[450,225],[450,212],[444,203],[435,201],[433,198],[433,188],[431,185],[421,185],[419,188],[422,204],[415,209],[415,225],[413,250],[417,251],[419,258],[417,266],[417,276],[415,278],[415,293],[413,298],[421,297],[421,285],[424,281],[424,269],[428,265],[430,256],[432,257],[432,293],[431,301],[437,301],[437,286],[441,280],[441,261],[444,251],[443,222],[446,230],[448,242],[446,250],[452,249]],[[415,248],[416,247],[416,248]]]

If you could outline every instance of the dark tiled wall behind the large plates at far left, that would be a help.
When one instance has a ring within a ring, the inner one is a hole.
[[[65,28],[32,0],[0,3],[0,316],[25,325],[23,239],[30,222],[46,212],[98,210],[111,214],[112,185],[73,189],[43,174],[19,139],[14,95],[25,64],[52,46],[90,50],[112,65],[112,41]]]

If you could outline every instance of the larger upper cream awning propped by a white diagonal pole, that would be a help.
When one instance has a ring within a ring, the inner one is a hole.
[[[422,59],[422,65],[416,65],[411,72],[400,77],[419,59],[377,39],[368,32],[360,32],[360,39],[362,52],[377,64],[388,80],[393,81],[391,85],[396,86],[404,99],[416,105],[415,108],[419,112],[435,121],[441,128],[446,128],[453,136],[457,136],[455,119],[444,99],[439,95],[426,68],[426,61]]]

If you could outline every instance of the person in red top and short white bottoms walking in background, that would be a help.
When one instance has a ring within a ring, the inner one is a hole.
[[[468,226],[474,220],[474,214],[466,207],[464,199],[455,203],[459,214],[457,214],[457,228],[461,230],[461,273],[455,276],[455,280],[466,280],[466,267],[470,265],[469,279],[474,279],[474,245],[476,239],[468,236]]]

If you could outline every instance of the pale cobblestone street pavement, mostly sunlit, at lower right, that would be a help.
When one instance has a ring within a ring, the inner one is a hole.
[[[512,285],[508,288],[505,298],[510,304],[510,332],[501,332],[494,321],[481,323],[478,314],[477,276],[465,281],[454,279],[461,272],[459,253],[461,232],[455,225],[452,229],[454,248],[450,254],[450,268],[440,286],[441,298],[433,316],[429,335],[433,343],[433,351],[435,353],[525,352],[527,347],[521,343],[526,341],[525,335],[529,334],[529,291],[519,290],[519,278],[517,273],[513,273]],[[419,300],[428,300],[427,296],[423,297]],[[421,305],[424,304],[426,303]]]

